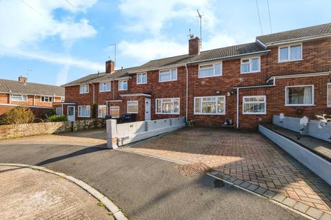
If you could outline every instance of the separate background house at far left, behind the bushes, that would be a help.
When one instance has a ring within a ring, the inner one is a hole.
[[[28,83],[26,77],[20,76],[18,81],[0,79],[0,115],[24,106],[32,109],[39,118],[47,109],[53,109],[54,102],[63,102],[64,94],[63,87]]]

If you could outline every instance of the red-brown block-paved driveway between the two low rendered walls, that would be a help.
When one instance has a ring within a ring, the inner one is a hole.
[[[123,151],[203,162],[214,170],[331,213],[330,185],[260,133],[185,128]]]

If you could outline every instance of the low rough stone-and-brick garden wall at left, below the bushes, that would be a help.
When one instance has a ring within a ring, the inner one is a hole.
[[[45,122],[31,124],[10,124],[0,126],[0,140],[27,137],[33,135],[45,135],[50,133],[63,133],[70,131],[82,131],[106,127],[106,120],[79,120],[75,122]]]

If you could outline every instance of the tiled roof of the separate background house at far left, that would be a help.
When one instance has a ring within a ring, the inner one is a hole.
[[[64,88],[54,85],[44,85],[39,83],[19,83],[14,80],[0,79],[0,93],[44,95],[44,96],[64,96]]]

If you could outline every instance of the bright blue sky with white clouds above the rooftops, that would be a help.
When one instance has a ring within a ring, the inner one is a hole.
[[[69,3],[68,3],[69,1]],[[0,78],[62,85],[105,70],[185,54],[188,29],[202,49],[252,42],[261,35],[254,0],[1,0]],[[270,34],[268,5],[258,0],[263,34]],[[70,3],[72,5],[70,5]],[[331,1],[269,0],[272,32],[331,22]],[[31,8],[30,8],[31,7]]]

